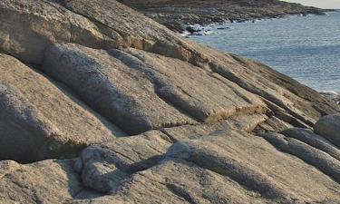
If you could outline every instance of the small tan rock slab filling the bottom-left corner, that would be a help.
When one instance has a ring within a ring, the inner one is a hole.
[[[44,160],[20,165],[0,161],[1,203],[66,203],[79,193],[79,176],[72,160]]]

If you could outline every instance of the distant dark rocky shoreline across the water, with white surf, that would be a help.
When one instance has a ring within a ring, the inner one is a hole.
[[[242,23],[286,15],[325,15],[325,10],[278,0],[119,0],[177,33],[194,33],[193,24]]]

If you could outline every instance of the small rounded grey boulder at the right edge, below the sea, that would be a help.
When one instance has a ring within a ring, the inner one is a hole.
[[[316,122],[314,131],[340,148],[340,115],[328,115]]]

